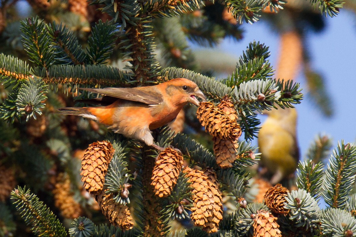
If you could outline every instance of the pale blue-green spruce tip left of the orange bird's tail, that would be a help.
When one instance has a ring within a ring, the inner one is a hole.
[[[34,76],[32,80],[25,81],[17,94],[16,107],[19,117],[26,114],[26,122],[31,117],[36,119],[36,114],[41,115],[45,108],[43,101],[47,99],[48,85],[40,77]]]

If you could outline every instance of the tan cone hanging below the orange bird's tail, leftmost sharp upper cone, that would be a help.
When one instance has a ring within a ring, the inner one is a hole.
[[[114,148],[108,141],[97,141],[89,145],[82,158],[82,181],[84,188],[91,194],[103,189],[105,175],[114,155]]]

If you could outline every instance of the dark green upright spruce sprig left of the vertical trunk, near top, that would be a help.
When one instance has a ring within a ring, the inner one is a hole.
[[[99,20],[88,38],[87,58],[92,64],[105,64],[114,51],[116,26]]]

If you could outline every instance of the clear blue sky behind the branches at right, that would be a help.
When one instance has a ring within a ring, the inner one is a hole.
[[[256,40],[269,46],[271,64],[277,64],[279,36],[268,23],[260,21],[242,26],[244,39],[234,42],[226,39],[218,46],[219,50],[240,56],[249,42]],[[305,96],[298,110],[298,142],[303,157],[310,143],[319,133],[330,135],[333,146],[341,139],[345,142],[356,140],[356,24],[351,11],[341,9],[334,18],[326,18],[323,32],[306,35],[307,47],[311,56],[311,66],[324,76],[327,92],[334,103],[334,116],[325,118]],[[305,78],[299,73],[295,79],[306,88]],[[307,94],[307,90],[302,91]],[[263,119],[263,118],[261,118]],[[255,139],[256,140],[256,139]],[[254,141],[254,144],[256,141]]]

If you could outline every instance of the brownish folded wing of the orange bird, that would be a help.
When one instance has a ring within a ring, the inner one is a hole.
[[[138,88],[109,87],[103,89],[96,89],[96,88],[80,88],[80,89],[103,94],[106,96],[111,96],[120,99],[127,99],[129,101],[137,101],[150,105],[157,105],[163,102],[163,97],[159,92],[153,90],[145,90],[145,89],[142,90],[142,88],[145,87],[138,87]]]

